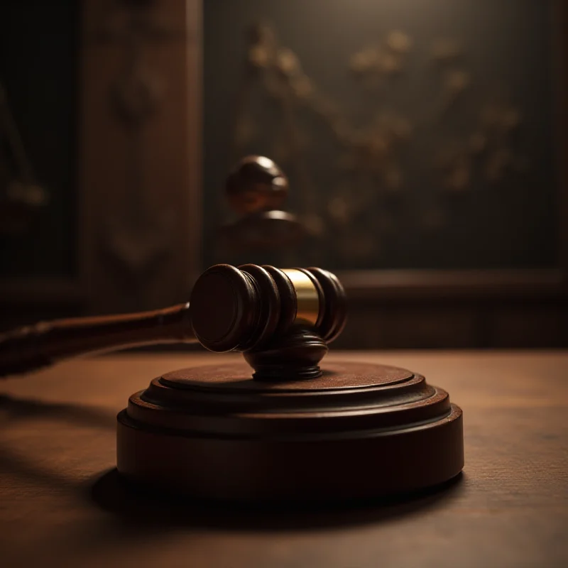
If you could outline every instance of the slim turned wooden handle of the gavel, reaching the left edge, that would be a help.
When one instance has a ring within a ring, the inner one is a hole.
[[[197,343],[189,302],[151,312],[40,322],[0,334],[0,377],[93,351],[178,342]]]

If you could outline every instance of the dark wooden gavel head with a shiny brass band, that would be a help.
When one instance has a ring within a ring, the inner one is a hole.
[[[344,289],[321,268],[212,266],[190,298],[195,337],[210,351],[254,351],[295,327],[332,342],[346,320]]]

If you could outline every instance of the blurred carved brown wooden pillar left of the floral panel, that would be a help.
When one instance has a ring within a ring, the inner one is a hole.
[[[200,270],[200,6],[86,0],[82,217],[89,311],[187,299]]]

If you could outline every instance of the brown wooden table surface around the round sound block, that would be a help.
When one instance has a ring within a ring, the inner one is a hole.
[[[0,383],[0,564],[568,566],[568,352],[365,352],[464,410],[461,479],[398,503],[268,511],[126,491],[115,417],[165,371],[233,355],[124,354]],[[230,464],[227,464],[230,474]]]

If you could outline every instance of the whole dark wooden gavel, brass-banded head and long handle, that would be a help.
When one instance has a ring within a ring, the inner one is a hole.
[[[294,353],[308,344],[320,351],[323,345],[327,351],[325,344],[342,332],[345,320],[343,287],[328,271],[218,264],[202,273],[190,302],[184,304],[136,314],[40,322],[0,335],[0,376],[94,351],[177,342],[199,342],[217,352],[241,351],[249,354],[249,362],[268,355],[268,366],[273,366],[274,358],[279,361],[275,342],[294,329],[304,330],[303,335],[295,332]],[[319,343],[314,337],[320,338]],[[284,349],[280,356],[287,359],[290,352]]]

